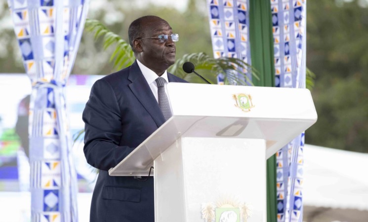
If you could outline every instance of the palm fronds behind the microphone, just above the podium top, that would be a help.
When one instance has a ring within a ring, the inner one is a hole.
[[[259,79],[258,72],[241,59],[227,57],[214,59],[204,52],[185,54],[182,58],[176,60],[169,72],[189,82],[199,82],[200,79],[197,76],[187,74],[181,68],[188,61],[196,66],[196,70],[201,70],[212,83],[216,81],[219,74],[224,76],[225,84],[253,85],[246,73],[251,73],[252,77]]]

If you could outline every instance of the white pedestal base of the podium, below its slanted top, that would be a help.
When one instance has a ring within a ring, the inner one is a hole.
[[[240,221],[246,206],[248,222],[265,222],[265,150],[262,139],[183,137],[172,144],[154,161],[155,221],[204,222],[206,211]]]

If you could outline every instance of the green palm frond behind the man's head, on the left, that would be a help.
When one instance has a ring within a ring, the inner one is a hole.
[[[114,53],[110,57],[110,62],[113,62],[114,68],[120,70],[124,67],[130,66],[134,60],[133,51],[128,42],[122,37],[110,31],[98,20],[87,19],[84,28],[86,31],[93,33],[94,38],[103,37],[103,48],[106,50],[111,45],[115,45]]]

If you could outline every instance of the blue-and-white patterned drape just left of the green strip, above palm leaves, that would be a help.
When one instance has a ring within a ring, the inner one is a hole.
[[[207,0],[207,4],[213,57],[240,58],[250,64],[248,0]],[[244,80],[242,75],[234,75]],[[218,83],[223,84],[221,76]]]

